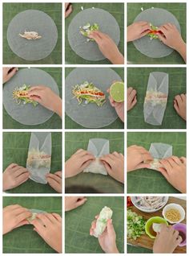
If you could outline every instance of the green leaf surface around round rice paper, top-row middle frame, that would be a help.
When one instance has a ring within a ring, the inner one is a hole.
[[[119,23],[119,28],[120,28],[120,42],[119,42],[119,51],[124,54],[124,4],[123,3],[118,3],[118,2],[108,2],[108,3],[103,3],[103,2],[79,2],[79,3],[72,3],[73,6],[73,12],[66,18],[65,20],[65,61],[66,64],[110,64],[109,60],[100,60],[100,61],[89,61],[89,60],[84,60],[74,51],[71,49],[70,44],[67,39],[67,31],[68,27],[70,25],[71,20],[74,18],[78,12],[81,11],[81,7],[83,6],[84,10],[87,8],[100,8],[103,10],[107,10],[110,14],[112,14],[115,19],[117,20],[117,23]],[[111,24],[110,24],[111,26]]]

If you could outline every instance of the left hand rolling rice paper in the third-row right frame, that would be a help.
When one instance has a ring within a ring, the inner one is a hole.
[[[127,148],[127,171],[150,168],[148,160],[153,160],[149,151],[144,147],[132,145]]]

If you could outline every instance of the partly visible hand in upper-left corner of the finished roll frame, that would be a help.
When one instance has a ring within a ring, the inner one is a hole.
[[[65,211],[68,212],[86,203],[84,196],[65,196]]]

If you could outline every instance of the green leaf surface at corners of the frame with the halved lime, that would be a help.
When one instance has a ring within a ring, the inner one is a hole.
[[[74,68],[65,68],[65,77],[69,75],[69,73]],[[115,72],[119,74],[119,76],[124,81],[124,68],[112,68]],[[85,127],[78,125],[77,122],[74,122],[69,116],[65,113],[65,128],[66,129],[83,129]],[[86,128],[85,128],[86,129]],[[124,129],[124,123],[117,118],[115,122],[111,123],[111,125],[102,127],[101,129]]]

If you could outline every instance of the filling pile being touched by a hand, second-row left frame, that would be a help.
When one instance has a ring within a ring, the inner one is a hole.
[[[34,106],[38,105],[37,101],[31,100],[28,97],[28,90],[30,89],[30,85],[22,85],[21,87],[16,87],[13,91],[13,98],[16,100],[17,104],[23,103],[24,105],[27,103],[32,103]]]

